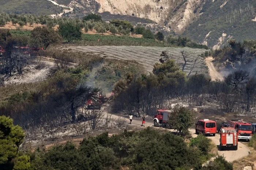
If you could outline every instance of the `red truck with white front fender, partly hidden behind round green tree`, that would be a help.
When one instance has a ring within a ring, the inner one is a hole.
[[[170,124],[168,123],[169,114],[172,111],[167,109],[158,109],[157,114],[154,116],[154,126],[158,127],[159,124],[165,125],[166,128],[170,128]]]

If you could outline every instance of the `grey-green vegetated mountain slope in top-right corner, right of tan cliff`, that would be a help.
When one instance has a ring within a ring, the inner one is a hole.
[[[206,41],[210,47],[219,42],[223,33],[226,36],[221,45],[227,43],[228,36],[237,41],[256,39],[255,7],[254,0],[206,0],[203,8],[198,9],[201,13],[199,19],[189,25],[182,35],[198,43]]]

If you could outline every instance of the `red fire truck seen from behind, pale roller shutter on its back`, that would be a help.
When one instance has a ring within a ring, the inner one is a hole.
[[[219,146],[221,150],[227,147],[233,147],[235,150],[238,148],[238,133],[233,127],[223,127],[220,129]]]

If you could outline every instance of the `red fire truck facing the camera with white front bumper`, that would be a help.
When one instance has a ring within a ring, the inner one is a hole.
[[[238,140],[239,139],[252,139],[252,125],[250,123],[246,123],[243,120],[232,121],[229,120],[229,127],[233,127],[236,129],[238,133]]]

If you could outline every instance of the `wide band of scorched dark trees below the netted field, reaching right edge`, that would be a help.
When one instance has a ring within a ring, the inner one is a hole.
[[[127,75],[114,88],[113,111],[154,115],[158,108],[169,108],[170,99],[186,100],[192,105],[204,105],[210,97],[224,112],[255,110],[256,80],[247,71],[237,70],[224,81],[211,81],[203,74],[186,77],[174,61],[156,63],[153,73],[141,77]],[[130,81],[132,79],[133,81]]]

